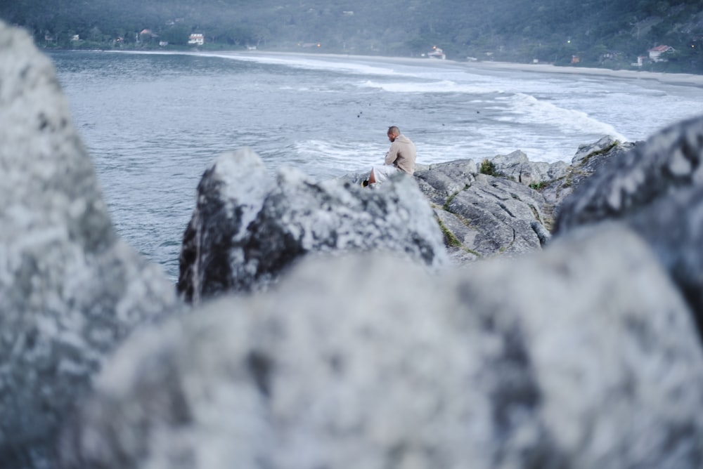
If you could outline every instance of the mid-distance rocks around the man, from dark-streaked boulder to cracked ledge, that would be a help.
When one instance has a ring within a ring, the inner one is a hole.
[[[273,178],[251,150],[223,154],[198,185],[178,289],[188,303],[261,291],[309,254],[387,251],[434,270],[520,256],[546,244],[576,187],[633,145],[606,136],[570,165],[518,150],[418,166],[414,177],[366,190],[366,174],[318,183],[288,168]]]

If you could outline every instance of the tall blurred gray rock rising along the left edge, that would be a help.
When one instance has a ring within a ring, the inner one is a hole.
[[[0,466],[49,465],[103,359],[175,301],[115,235],[49,58],[0,22]]]

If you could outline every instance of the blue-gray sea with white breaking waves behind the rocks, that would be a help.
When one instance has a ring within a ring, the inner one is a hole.
[[[703,88],[449,60],[272,53],[52,52],[117,232],[178,277],[202,172],[251,147],[328,179],[382,161],[397,125],[418,163],[515,150],[571,161],[703,112]]]

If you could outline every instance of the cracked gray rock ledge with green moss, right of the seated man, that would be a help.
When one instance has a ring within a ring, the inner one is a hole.
[[[546,244],[562,201],[605,161],[633,146],[605,136],[581,145],[572,164],[529,161],[516,150],[487,159],[492,174],[460,159],[418,167],[415,178],[433,205],[450,259],[465,264]]]

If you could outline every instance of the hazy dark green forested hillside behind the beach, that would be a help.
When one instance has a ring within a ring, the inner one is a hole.
[[[439,46],[453,60],[630,68],[666,45],[666,61],[645,70],[703,73],[703,0],[4,0],[0,18],[44,47],[184,48],[199,32],[200,48],[419,56]]]

